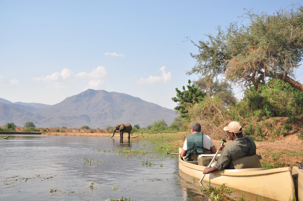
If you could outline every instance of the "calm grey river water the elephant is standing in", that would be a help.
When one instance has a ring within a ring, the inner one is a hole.
[[[151,151],[151,143],[40,135],[0,140],[0,200],[198,200],[203,195],[198,180],[179,173],[177,158],[108,149]]]

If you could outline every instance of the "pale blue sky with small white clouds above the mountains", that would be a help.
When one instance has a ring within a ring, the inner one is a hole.
[[[243,8],[273,13],[303,0],[0,0],[0,98],[57,104],[87,89],[173,109],[195,65],[186,40],[206,39]],[[303,71],[297,71],[303,83]],[[241,93],[235,87],[236,96]]]

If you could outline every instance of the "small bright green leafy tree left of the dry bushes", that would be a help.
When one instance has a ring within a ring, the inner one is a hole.
[[[176,88],[177,97],[171,98],[171,100],[178,103],[178,106],[176,106],[174,110],[179,111],[181,118],[188,117],[188,110],[186,107],[191,107],[193,104],[203,101],[203,98],[205,97],[205,93],[198,90],[198,88],[195,87],[195,84],[191,85],[190,80],[188,80],[188,85],[186,85],[186,87],[188,90],[185,90],[185,86],[183,86],[183,91]]]

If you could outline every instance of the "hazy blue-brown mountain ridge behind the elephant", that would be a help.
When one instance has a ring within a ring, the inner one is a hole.
[[[151,125],[164,119],[171,124],[177,117],[174,110],[143,101],[128,94],[88,89],[67,97],[55,105],[12,103],[0,98],[0,125],[14,122],[22,126],[27,121],[37,127],[105,128],[115,124]]]

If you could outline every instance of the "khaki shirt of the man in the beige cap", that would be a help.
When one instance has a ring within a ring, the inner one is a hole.
[[[237,138],[223,148],[218,161],[215,163],[215,167],[218,170],[234,169],[234,165],[231,160],[245,157],[249,150],[248,142],[245,138],[247,138],[251,143],[248,156],[256,154],[256,144],[250,137]]]

